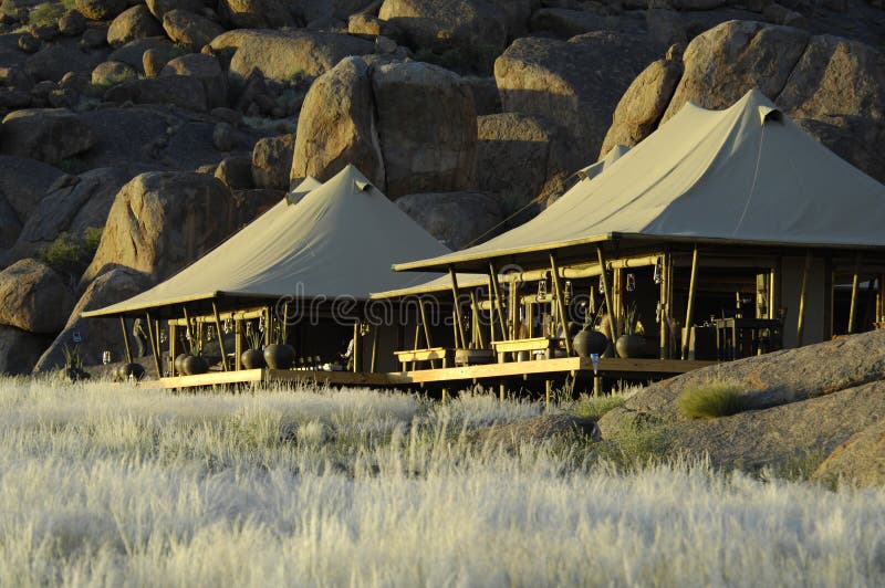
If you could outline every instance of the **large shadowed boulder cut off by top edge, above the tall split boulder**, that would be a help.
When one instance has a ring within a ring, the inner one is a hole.
[[[487,0],[385,0],[378,18],[405,31],[415,48],[488,48],[500,53],[508,14]]]

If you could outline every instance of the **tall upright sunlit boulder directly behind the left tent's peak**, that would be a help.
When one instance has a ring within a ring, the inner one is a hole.
[[[299,116],[290,178],[325,181],[348,164],[385,187],[369,69],[358,57],[342,60],[311,85]]]

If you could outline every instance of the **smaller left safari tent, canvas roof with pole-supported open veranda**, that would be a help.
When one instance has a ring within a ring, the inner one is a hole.
[[[288,337],[299,355],[325,356],[344,350],[342,340],[346,347],[351,333],[357,340],[368,334],[369,327],[361,323],[361,317],[371,292],[408,287],[435,275],[397,274],[391,271],[393,263],[448,252],[355,167],[347,166],[325,183],[305,180],[169,280],[83,316],[118,316],[124,334],[127,318],[142,318],[155,357],[160,356],[156,350],[165,340],[170,344],[169,356],[176,355],[176,329],[184,328],[195,337],[214,332],[215,337],[207,338],[220,345],[225,370],[240,368],[239,351],[247,328],[260,328],[270,342],[272,334],[280,332],[283,318],[293,324],[287,329]],[[364,357],[375,357],[376,369],[387,367],[399,328],[381,326],[368,337],[371,343],[362,340],[360,350],[364,350]],[[231,361],[226,353],[231,350],[230,342],[226,347],[222,335],[235,339]],[[372,354],[369,347],[376,353]],[[387,348],[388,353],[377,353],[377,348]],[[165,366],[159,360],[157,364],[163,374]],[[368,368],[368,361],[365,364]],[[166,371],[175,375],[173,366]]]

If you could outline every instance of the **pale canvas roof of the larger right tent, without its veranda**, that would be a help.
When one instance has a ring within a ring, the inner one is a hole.
[[[613,238],[885,246],[885,186],[777,109],[759,91],[725,111],[691,103],[593,180],[479,245],[397,270],[543,252]]]

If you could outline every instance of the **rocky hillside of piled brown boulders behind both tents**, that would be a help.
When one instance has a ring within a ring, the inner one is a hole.
[[[885,179],[884,40],[881,0],[2,0],[0,370],[97,360],[80,312],[346,162],[460,248],[759,86]]]

